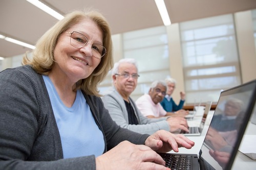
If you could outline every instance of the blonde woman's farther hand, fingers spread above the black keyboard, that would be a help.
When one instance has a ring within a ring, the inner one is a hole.
[[[178,148],[180,147],[191,149],[195,145],[195,142],[189,140],[182,134],[173,134],[165,130],[159,130],[146,139],[145,145],[156,152],[166,153],[170,150],[179,152]]]

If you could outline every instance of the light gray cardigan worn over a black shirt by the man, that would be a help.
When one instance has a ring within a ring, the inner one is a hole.
[[[139,125],[130,125],[124,100],[116,90],[114,90],[110,94],[106,94],[105,96],[103,96],[102,101],[105,108],[109,110],[112,119],[117,123],[117,125],[120,125],[120,127],[122,128],[126,128],[142,134],[153,134],[161,129],[166,131],[170,130],[169,125],[166,122],[166,117],[144,117],[131,98],[129,98],[129,101],[134,108]]]

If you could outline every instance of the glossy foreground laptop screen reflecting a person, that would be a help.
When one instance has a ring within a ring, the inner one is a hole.
[[[254,86],[249,84],[221,92],[201,148],[200,161],[204,166],[210,164],[215,169],[230,169],[227,163],[236,156],[247,126],[243,122],[248,119],[247,112],[254,105],[251,103],[251,98],[255,98]]]

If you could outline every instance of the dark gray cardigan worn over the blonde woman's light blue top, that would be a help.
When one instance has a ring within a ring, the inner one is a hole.
[[[104,152],[123,140],[144,144],[149,135],[120,128],[100,98],[84,97],[103,133]],[[94,155],[63,159],[48,91],[30,66],[0,72],[0,115],[0,169],[95,169]]]

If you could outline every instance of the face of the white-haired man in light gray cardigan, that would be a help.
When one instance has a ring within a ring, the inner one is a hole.
[[[137,86],[138,79],[132,78],[132,75],[138,74],[137,68],[131,63],[121,63],[118,68],[118,74],[113,76],[114,85],[122,96],[130,96]],[[124,74],[129,77],[125,78]]]

